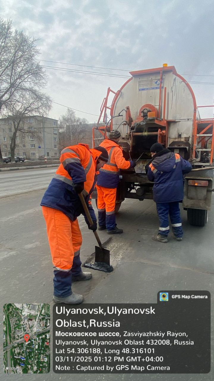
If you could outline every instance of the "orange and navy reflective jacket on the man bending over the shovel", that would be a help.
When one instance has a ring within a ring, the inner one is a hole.
[[[100,155],[101,152],[96,149],[89,150],[88,144],[79,143],[63,149],[60,157],[61,164],[40,205],[61,210],[72,221],[80,214],[84,214],[73,184],[84,182],[84,189],[88,193],[87,203],[96,184],[96,160]],[[94,214],[92,219],[96,221]]]

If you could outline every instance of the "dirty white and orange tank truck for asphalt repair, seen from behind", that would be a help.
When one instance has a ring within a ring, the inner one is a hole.
[[[118,129],[124,157],[137,162],[134,169],[120,171],[115,211],[125,199],[153,199],[153,182],[147,178],[145,165],[151,161],[150,147],[159,142],[191,162],[193,171],[184,178],[182,205],[188,223],[205,226],[212,199],[214,118],[201,118],[198,109],[213,106],[196,106],[191,86],[174,66],[163,64],[130,74],[117,92],[108,88],[93,127],[93,147]],[[113,101],[108,106],[110,95]],[[98,126],[102,118],[105,125]]]

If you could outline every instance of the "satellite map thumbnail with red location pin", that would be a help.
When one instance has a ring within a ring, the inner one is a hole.
[[[50,371],[49,304],[5,304],[3,330],[5,373]]]

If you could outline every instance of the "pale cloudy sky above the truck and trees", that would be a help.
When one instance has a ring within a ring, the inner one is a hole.
[[[94,114],[76,111],[89,123],[97,121],[107,88],[117,91],[127,78],[64,68],[127,76],[166,62],[187,81],[209,82],[190,85],[198,106],[213,104],[213,0],[1,0],[0,15],[39,38],[40,63],[62,68],[45,69],[45,92],[54,102]],[[66,107],[53,103],[49,117],[59,119],[65,112]],[[213,109],[200,113],[212,117]]]

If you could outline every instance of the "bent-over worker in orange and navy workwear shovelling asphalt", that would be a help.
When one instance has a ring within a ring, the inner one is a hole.
[[[88,228],[96,231],[96,216],[89,199],[96,184],[96,171],[108,161],[108,153],[103,147],[89,149],[88,144],[77,144],[63,149],[60,161],[40,205],[54,266],[53,300],[79,304],[83,296],[72,293],[72,282],[91,279],[92,274],[81,271],[82,236],[77,217],[83,214]],[[88,204],[92,227],[78,196],[81,192]]]

